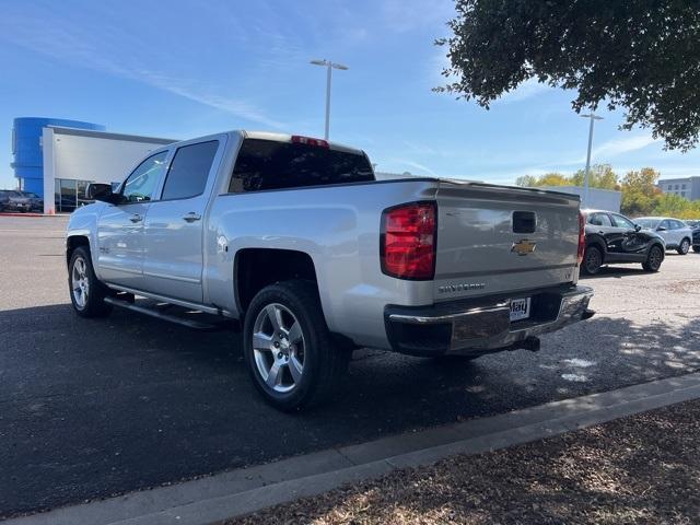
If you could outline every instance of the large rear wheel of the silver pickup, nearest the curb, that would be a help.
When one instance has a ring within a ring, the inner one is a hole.
[[[250,302],[244,358],[265,400],[282,411],[326,401],[341,382],[350,352],[334,345],[314,283],[284,281]]]

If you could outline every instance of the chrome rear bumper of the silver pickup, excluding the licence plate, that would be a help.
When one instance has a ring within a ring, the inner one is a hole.
[[[530,317],[511,323],[511,299],[530,299]],[[533,348],[535,338],[593,315],[593,290],[567,285],[513,298],[485,298],[431,306],[387,306],[392,348],[411,355],[480,354]]]

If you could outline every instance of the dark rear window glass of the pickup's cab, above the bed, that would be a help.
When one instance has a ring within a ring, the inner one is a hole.
[[[230,192],[374,180],[366,156],[317,145],[245,139]]]

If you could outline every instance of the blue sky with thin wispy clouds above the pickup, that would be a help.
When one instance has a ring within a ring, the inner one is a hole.
[[[583,167],[587,120],[572,93],[526,83],[485,110],[431,92],[442,82],[450,0],[206,2],[0,0],[0,187],[14,185],[12,119],[50,116],[108,130],[192,138],[228,129],[323,136],[377,170],[512,183]],[[646,130],[599,113],[594,162],[622,174],[700,175],[697,150],[663,151]]]

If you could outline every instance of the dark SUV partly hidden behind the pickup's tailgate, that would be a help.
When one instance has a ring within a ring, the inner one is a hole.
[[[666,252],[661,235],[642,230],[620,213],[583,210],[583,214],[586,221],[583,273],[595,275],[603,265],[614,262],[641,262],[646,271],[658,271]]]

